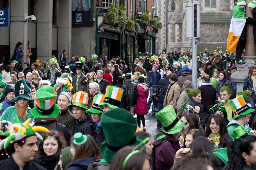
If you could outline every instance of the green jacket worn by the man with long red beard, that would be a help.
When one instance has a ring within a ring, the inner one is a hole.
[[[30,110],[31,110],[30,107],[28,107],[28,110],[27,110],[28,115],[27,115],[27,117],[26,117],[24,120],[22,120],[22,119],[19,118],[20,123],[24,123],[24,122],[25,122],[26,120],[28,120],[29,118],[32,118],[31,122],[34,120],[34,116],[31,114]],[[18,114],[18,113],[17,113],[17,110],[16,110],[16,105],[15,105],[15,106],[8,107],[8,108],[4,111],[4,113],[2,114],[1,120],[6,120],[6,121],[9,121],[9,122],[14,123],[14,115],[15,115],[15,114]]]

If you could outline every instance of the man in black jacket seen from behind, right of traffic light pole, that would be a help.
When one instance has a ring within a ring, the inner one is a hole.
[[[200,125],[201,128],[204,129],[208,117],[211,116],[209,106],[213,106],[215,104],[216,98],[216,89],[212,86],[209,75],[204,75],[203,84],[198,88],[198,90],[201,90],[201,103],[204,106],[200,116]]]

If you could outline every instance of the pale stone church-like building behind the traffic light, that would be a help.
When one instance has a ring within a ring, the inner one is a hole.
[[[158,7],[161,9],[158,10],[158,16],[163,23],[163,28],[158,33],[159,51],[165,48],[167,51],[192,50],[192,41],[186,38],[186,8],[191,3],[192,0],[158,0]],[[198,40],[198,51],[204,52],[207,48],[209,52],[213,52],[217,46],[220,46],[225,52],[235,2],[233,0],[199,0],[199,3],[201,35]]]

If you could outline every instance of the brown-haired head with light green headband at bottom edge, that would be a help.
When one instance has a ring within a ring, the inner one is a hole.
[[[150,170],[151,158],[145,150],[133,149],[134,146],[124,146],[118,150],[108,170]]]

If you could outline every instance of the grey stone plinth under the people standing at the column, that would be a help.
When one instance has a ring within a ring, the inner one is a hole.
[[[255,56],[244,56],[245,64],[239,64],[237,66],[237,71],[231,74],[231,78],[236,82],[236,92],[243,91],[244,79],[248,76],[248,70],[252,64],[252,61],[255,61]]]

